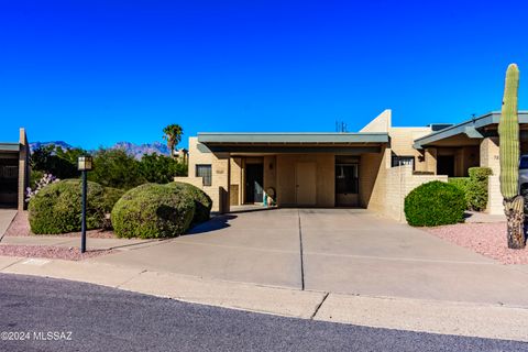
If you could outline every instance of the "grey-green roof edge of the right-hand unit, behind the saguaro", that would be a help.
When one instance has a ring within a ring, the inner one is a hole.
[[[518,117],[519,123],[528,123],[528,111],[519,111]],[[482,129],[491,124],[497,124],[499,120],[501,111],[492,111],[477,118],[453,124],[452,127],[419,138],[415,140],[414,147],[422,148],[425,145],[454,136],[457,134],[465,134],[470,139],[482,139],[484,136],[477,129]]]

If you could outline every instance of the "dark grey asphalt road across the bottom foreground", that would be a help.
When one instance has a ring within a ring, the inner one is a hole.
[[[282,318],[0,274],[0,351],[528,351],[514,341]],[[20,340],[24,339],[24,340]]]

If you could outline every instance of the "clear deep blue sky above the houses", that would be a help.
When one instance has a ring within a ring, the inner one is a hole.
[[[528,109],[522,1],[0,4],[0,141],[356,131],[386,108],[395,125],[460,122],[501,109],[512,62]]]

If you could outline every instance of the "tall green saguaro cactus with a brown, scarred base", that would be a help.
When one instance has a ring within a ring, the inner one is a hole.
[[[501,193],[508,227],[508,248],[525,248],[524,198],[519,196],[519,118],[517,116],[517,91],[519,69],[512,64],[506,72],[503,109],[498,122],[501,154]]]

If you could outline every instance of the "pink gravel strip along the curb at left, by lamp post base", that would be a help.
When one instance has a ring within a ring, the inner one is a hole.
[[[114,253],[114,250],[108,251],[87,251],[80,253],[79,249],[68,249],[52,245],[0,245],[0,255],[24,256],[24,257],[47,257],[54,260],[80,261],[89,257]]]

